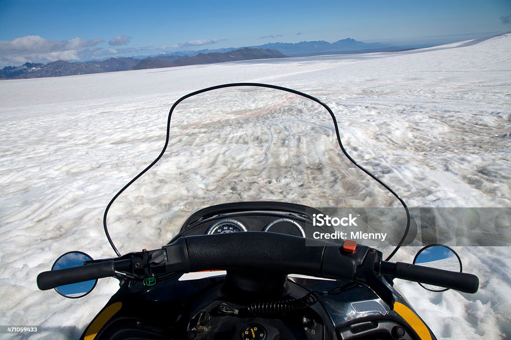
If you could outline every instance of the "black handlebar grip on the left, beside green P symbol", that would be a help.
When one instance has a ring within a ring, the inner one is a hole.
[[[37,275],[37,286],[41,290],[65,284],[101,279],[115,274],[113,261],[91,263],[83,266],[42,272]]]

